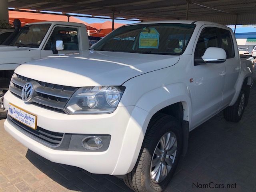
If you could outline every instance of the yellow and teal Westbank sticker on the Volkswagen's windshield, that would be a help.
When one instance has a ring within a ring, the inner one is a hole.
[[[143,28],[140,33],[139,48],[158,49],[159,33],[155,28]]]

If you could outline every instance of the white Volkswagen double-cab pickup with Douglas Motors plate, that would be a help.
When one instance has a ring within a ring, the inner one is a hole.
[[[189,132],[222,110],[238,122],[251,85],[230,28],[130,24],[90,50],[19,66],[4,97],[4,128],[52,162],[159,192]]]

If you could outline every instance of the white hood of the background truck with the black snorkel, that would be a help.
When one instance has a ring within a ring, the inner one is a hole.
[[[23,63],[28,60],[22,58],[40,58],[40,52],[38,50],[14,46],[0,46],[0,64],[8,63]],[[21,61],[21,62],[20,62]]]

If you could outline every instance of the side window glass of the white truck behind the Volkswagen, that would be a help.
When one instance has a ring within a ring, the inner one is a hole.
[[[55,27],[44,50],[52,50],[56,46],[57,40],[63,41],[64,50],[79,50],[77,28]]]

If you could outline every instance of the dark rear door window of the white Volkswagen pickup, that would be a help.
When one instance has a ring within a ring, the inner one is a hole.
[[[234,44],[230,31],[225,29],[220,29],[221,44],[222,48],[226,51],[227,59],[233,58],[235,56]]]

